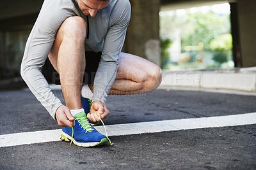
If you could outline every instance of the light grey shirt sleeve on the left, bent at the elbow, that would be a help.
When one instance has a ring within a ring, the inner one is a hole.
[[[42,66],[51,50],[56,32],[62,22],[72,15],[72,1],[45,0],[36,19],[35,25],[29,34],[20,74],[36,99],[55,118],[55,112],[61,106],[42,74]],[[71,9],[71,10],[67,10]]]

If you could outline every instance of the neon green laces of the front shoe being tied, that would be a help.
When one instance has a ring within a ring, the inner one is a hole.
[[[100,118],[100,115],[99,115],[99,119],[100,119],[100,122],[103,124],[103,127],[105,129],[105,133],[106,133],[106,138],[108,139],[109,141],[109,145],[110,146],[113,146],[114,143],[111,142],[111,140],[108,138],[108,133],[107,133],[107,129],[106,129],[106,126],[103,122],[103,120]],[[76,118],[76,120],[79,122],[79,124],[81,125],[81,127],[86,131],[86,132],[92,132],[93,129],[87,119],[87,117],[81,117],[81,118]],[[71,127],[72,129],[72,136],[71,136],[71,141],[70,141],[70,145],[72,144],[72,139],[73,139],[73,136],[74,136],[74,129],[73,127]]]

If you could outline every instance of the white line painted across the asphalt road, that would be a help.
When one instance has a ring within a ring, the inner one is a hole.
[[[256,113],[107,125],[109,136],[256,124]],[[95,127],[104,134],[103,126]],[[0,147],[60,141],[61,129],[0,135]]]

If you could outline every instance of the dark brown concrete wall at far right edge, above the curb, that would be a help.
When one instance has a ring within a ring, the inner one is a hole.
[[[256,1],[238,0],[242,66],[256,66]]]

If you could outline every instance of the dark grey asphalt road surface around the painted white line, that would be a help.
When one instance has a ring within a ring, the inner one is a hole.
[[[54,93],[61,98],[60,90]],[[106,124],[256,112],[256,96],[157,89],[109,96]],[[28,89],[0,92],[0,135],[60,129]],[[152,122],[154,124],[154,122]],[[22,139],[20,139],[22,140]],[[112,136],[113,146],[56,141],[0,148],[0,169],[256,169],[256,124]]]

